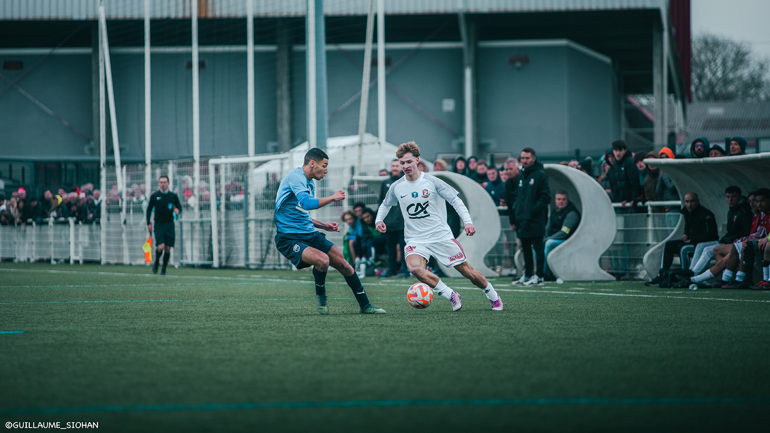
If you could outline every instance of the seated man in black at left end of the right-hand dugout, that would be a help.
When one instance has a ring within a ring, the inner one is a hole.
[[[644,283],[645,285],[658,285],[660,283],[661,277],[671,268],[674,255],[679,255],[681,268],[688,269],[690,251],[695,251],[695,246],[701,242],[716,241],[719,238],[714,213],[701,206],[695,192],[685,194],[685,207],[681,209],[681,215],[685,217],[685,233],[681,235],[681,239],[678,241],[666,242],[661,259],[661,271],[657,277]]]

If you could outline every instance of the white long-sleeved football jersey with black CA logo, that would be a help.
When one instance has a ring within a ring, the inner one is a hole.
[[[380,206],[400,205],[403,215],[403,237],[408,242],[431,243],[454,239],[452,230],[447,224],[447,205],[457,200],[455,206],[461,206],[460,218],[464,224],[472,224],[465,205],[457,196],[456,189],[447,182],[427,173],[420,173],[414,182],[409,182],[406,176],[390,185],[385,199]],[[377,221],[387,212],[377,212]]]

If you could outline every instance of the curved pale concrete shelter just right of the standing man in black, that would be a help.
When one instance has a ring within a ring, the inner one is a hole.
[[[615,212],[607,193],[596,179],[580,170],[559,164],[545,164],[544,169],[551,197],[563,189],[582,215],[574,234],[548,255],[548,267],[564,281],[614,280],[599,267],[599,258],[612,245],[616,231]]]

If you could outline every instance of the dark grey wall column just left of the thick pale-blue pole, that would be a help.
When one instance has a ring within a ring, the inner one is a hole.
[[[291,83],[290,83],[290,41],[289,26],[278,18],[276,26],[276,113],[278,127],[278,152],[291,149]]]

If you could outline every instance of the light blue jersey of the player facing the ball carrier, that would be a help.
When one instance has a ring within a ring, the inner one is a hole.
[[[276,195],[276,230],[279,233],[316,231],[308,211],[318,208],[316,185],[302,167],[294,168],[281,181]]]

